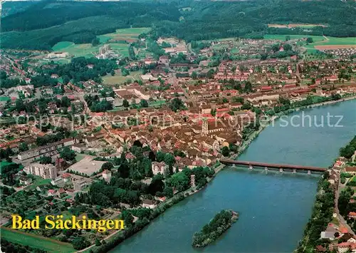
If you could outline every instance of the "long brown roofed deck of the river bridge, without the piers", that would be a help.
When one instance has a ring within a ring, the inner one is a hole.
[[[273,168],[282,168],[282,169],[295,169],[295,170],[311,170],[323,172],[326,169],[323,167],[313,167],[313,166],[301,166],[301,165],[286,165],[286,164],[277,164],[277,163],[266,163],[266,162],[250,162],[250,161],[241,161],[241,160],[231,160],[231,159],[221,159],[221,163],[224,164],[236,164],[236,165],[246,165],[246,166],[257,166],[257,167],[273,167]]]

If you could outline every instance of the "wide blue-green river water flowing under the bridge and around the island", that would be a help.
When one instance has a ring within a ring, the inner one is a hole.
[[[336,117],[328,126],[328,113],[342,115],[342,127],[335,126]],[[303,115],[311,116],[311,126],[309,118],[302,126]],[[306,109],[292,118],[300,127],[276,120],[239,160],[328,167],[356,133],[356,100]],[[324,127],[316,127],[314,119],[320,125],[322,118]],[[112,252],[293,252],[311,215],[319,176],[226,168]],[[193,249],[194,232],[223,209],[239,212],[239,220],[214,244]]]

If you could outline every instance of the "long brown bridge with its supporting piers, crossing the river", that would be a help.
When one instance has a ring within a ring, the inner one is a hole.
[[[286,164],[278,164],[278,163],[252,162],[252,161],[241,161],[241,160],[231,160],[231,159],[221,159],[220,162],[225,165],[248,166],[250,170],[252,170],[253,167],[264,167],[265,170],[274,169],[274,170],[279,170],[280,172],[286,170],[286,171],[292,171],[294,173],[299,170],[299,171],[308,172],[308,174],[311,174],[311,172],[323,173],[326,170],[323,167],[286,165]]]

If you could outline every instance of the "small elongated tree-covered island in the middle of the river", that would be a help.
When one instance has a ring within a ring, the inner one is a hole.
[[[200,232],[195,232],[193,235],[192,246],[201,248],[211,244],[223,234],[231,224],[239,218],[239,213],[233,210],[222,210],[206,224]]]

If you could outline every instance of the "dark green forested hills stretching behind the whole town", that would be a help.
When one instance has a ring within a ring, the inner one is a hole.
[[[356,2],[251,1],[40,1],[1,18],[2,48],[51,49],[58,41],[90,43],[127,27],[152,27],[155,36],[187,41],[224,37],[261,38],[266,33],[356,36]],[[276,29],[268,24],[323,24]]]

